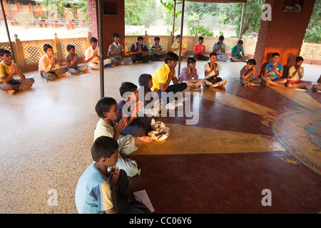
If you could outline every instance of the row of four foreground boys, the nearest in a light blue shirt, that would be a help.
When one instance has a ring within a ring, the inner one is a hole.
[[[151,91],[151,75],[143,74],[138,81],[142,88],[140,93],[145,95]],[[141,170],[127,157],[137,149],[133,136],[151,142],[147,135],[151,130],[151,118],[138,117],[144,104],[138,101],[135,84],[124,82],[119,92],[123,99],[118,103],[111,97],[101,98],[96,103],[100,119],[93,133],[94,163],[78,180],[75,202],[79,213],[151,213],[143,203],[129,199],[128,176],[139,175]]]

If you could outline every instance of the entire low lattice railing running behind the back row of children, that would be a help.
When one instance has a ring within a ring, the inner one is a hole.
[[[148,48],[153,44],[155,36],[148,36],[145,34],[143,36],[144,42]],[[170,51],[171,36],[159,36],[161,38],[161,46],[163,49]],[[174,38],[173,41],[176,39]],[[125,50],[128,53],[131,50],[131,45],[137,41],[137,36],[125,36]],[[187,44],[188,51],[193,51],[195,44],[198,41],[197,36],[183,36],[183,43]],[[254,54],[257,40],[245,38],[244,48],[245,54]],[[218,37],[204,37],[205,51],[212,51],[213,45],[218,42]],[[19,66],[27,66],[31,64],[36,64],[39,62],[39,58],[44,55],[44,44],[49,43],[54,47],[55,54],[57,54],[60,60],[63,60],[68,53],[66,51],[66,46],[68,44],[73,44],[76,47],[76,53],[79,57],[83,57],[88,48],[88,37],[83,38],[57,38],[56,43],[58,43],[59,50],[56,50],[55,39],[41,40],[41,41],[13,41],[13,47],[15,51],[15,58],[21,59],[19,61]],[[225,38],[224,43],[226,44],[226,52],[230,53],[231,48],[238,43],[238,38]],[[19,47],[18,47],[19,46]],[[15,50],[16,47],[18,50]],[[0,43],[0,48],[6,48],[11,51],[8,42]],[[12,51],[11,51],[12,52]],[[17,58],[17,56],[19,58]],[[321,44],[320,43],[303,43],[301,48],[300,56],[305,59],[321,61]],[[1,62],[1,59],[0,59]]]

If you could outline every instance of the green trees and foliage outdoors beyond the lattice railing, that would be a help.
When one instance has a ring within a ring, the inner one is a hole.
[[[46,6],[44,18],[54,14],[63,18],[68,11],[71,11],[76,19],[75,9],[83,14],[88,22],[87,0],[43,0],[36,1]],[[175,31],[180,29],[180,14],[182,1],[176,1]],[[240,21],[242,15],[242,3],[208,3],[185,1],[184,27],[188,28],[188,36],[193,36],[195,32],[201,36],[219,36],[214,34],[213,29],[219,28],[223,33],[225,28],[233,28],[235,36],[241,37],[258,36],[260,29],[262,6],[265,0],[249,0],[245,14],[244,25],[240,31]],[[62,10],[64,9],[64,10]],[[156,22],[164,20],[168,25],[167,33],[173,28],[173,0],[125,0],[125,22],[129,26],[157,26]],[[321,43],[321,0],[317,0],[310,19],[310,24],[305,34],[305,42]]]

